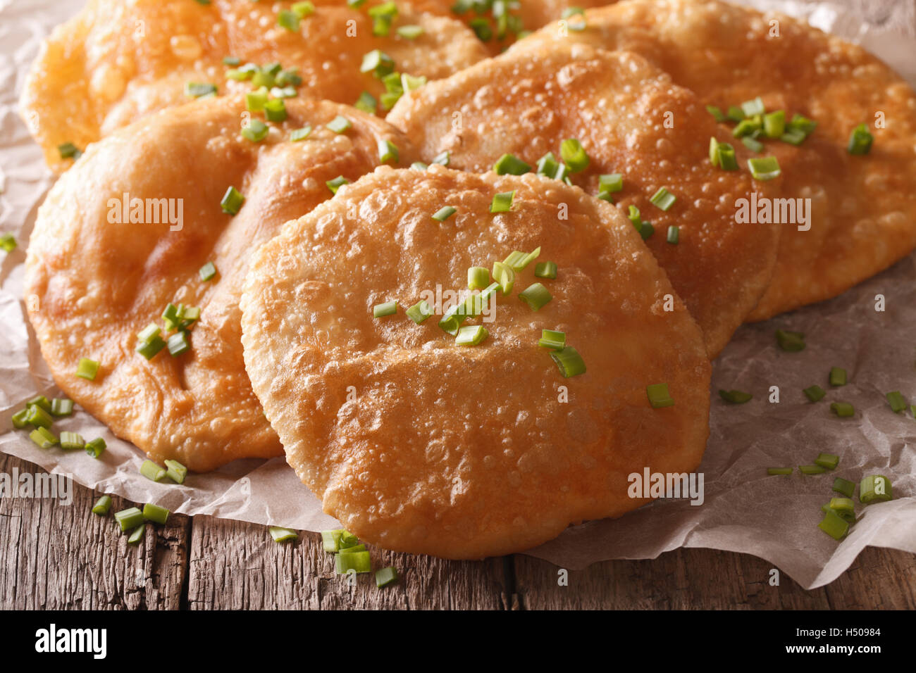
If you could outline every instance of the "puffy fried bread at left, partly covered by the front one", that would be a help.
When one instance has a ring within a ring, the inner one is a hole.
[[[93,144],[50,191],[27,252],[29,319],[57,384],[150,458],[196,471],[282,454],[242,360],[252,250],[330,198],[327,180],[375,168],[379,141],[410,159],[396,130],[346,105],[290,101],[259,144],[239,136],[244,111],[237,97],[188,103]],[[341,135],[322,127],[338,114],[352,125]],[[290,142],[305,125],[311,136]],[[234,216],[229,187],[245,197]],[[191,349],[147,361],[137,333],[156,322],[165,338],[169,303],[200,309]],[[94,380],[75,375],[82,358],[101,365]]]

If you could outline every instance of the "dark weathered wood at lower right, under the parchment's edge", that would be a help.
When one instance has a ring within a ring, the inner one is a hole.
[[[833,584],[805,591],[769,561],[714,549],[676,549],[654,560],[611,560],[570,570],[568,586],[547,561],[515,557],[518,599],[527,610],[916,609],[916,556],[866,548]]]

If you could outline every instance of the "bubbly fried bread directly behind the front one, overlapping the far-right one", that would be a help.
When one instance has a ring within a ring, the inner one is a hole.
[[[646,243],[700,324],[711,357],[767,288],[780,227],[738,224],[736,200],[769,193],[746,171],[709,162],[709,139],[722,135],[692,92],[649,61],[584,45],[512,49],[452,77],[410,92],[388,115],[424,160],[450,152],[450,166],[483,171],[504,153],[534,167],[564,139],[578,139],[588,168],[573,182],[598,193],[600,176],[620,173],[613,194],[636,206],[655,233]],[[727,134],[727,130],[725,129]],[[747,156],[740,143],[739,157]],[[666,212],[649,199],[666,188],[677,201]],[[679,243],[667,242],[669,226]]]

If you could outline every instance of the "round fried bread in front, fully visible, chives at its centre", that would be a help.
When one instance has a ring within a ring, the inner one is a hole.
[[[497,192],[514,192],[509,212],[490,212]],[[452,216],[431,217],[446,204]],[[466,289],[470,266],[538,246],[555,279],[520,271],[492,320],[465,323],[488,331],[478,345],[456,345],[439,315],[406,316],[424,294]],[[518,296],[535,281],[552,296],[537,311]],[[555,180],[377,168],[258,251],[241,305],[245,365],[289,464],[385,548],[529,548],[644,504],[627,474],[687,472],[703,455],[701,332],[627,219]],[[584,374],[562,377],[543,329],[565,332]],[[659,383],[673,406],[650,407]]]

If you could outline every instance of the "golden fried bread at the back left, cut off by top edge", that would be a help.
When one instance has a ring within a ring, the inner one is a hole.
[[[315,4],[293,31],[278,26],[279,5],[267,2],[90,0],[45,41],[27,76],[23,116],[49,166],[60,172],[72,164],[60,157],[60,145],[82,149],[143,114],[187,103],[189,82],[215,84],[221,94],[254,89],[251,80],[227,80],[225,57],[242,66],[296,69],[300,96],[355,103],[362,92],[376,101],[386,92],[372,72],[360,71],[374,49],[397,71],[430,79],[487,56],[474,32],[451,17],[398,3],[389,35],[375,37],[367,7]],[[401,37],[397,28],[404,25],[422,33]]]

